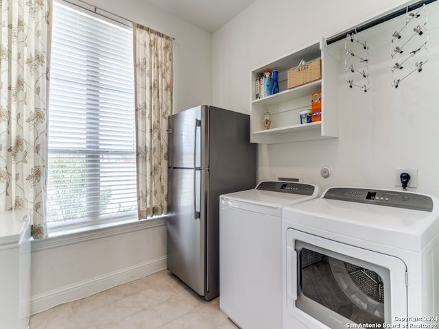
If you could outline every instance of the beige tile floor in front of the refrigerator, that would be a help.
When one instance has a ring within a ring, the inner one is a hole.
[[[236,329],[168,271],[32,315],[30,329]]]

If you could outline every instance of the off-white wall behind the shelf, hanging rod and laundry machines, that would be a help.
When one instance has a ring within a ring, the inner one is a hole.
[[[254,2],[213,34],[213,103],[249,113],[252,69],[405,3],[354,2]],[[341,60],[339,93],[326,95],[338,97],[340,137],[260,145],[259,180],[274,178],[280,171],[302,175],[304,182],[323,189],[337,185],[397,188],[396,167],[418,168],[418,188],[412,191],[439,196],[439,111],[433,96],[439,78],[437,22],[429,19],[429,26],[436,24],[436,29],[430,32],[431,55],[423,73],[407,78],[397,89],[390,86],[390,36],[394,31],[383,31],[388,44],[371,49],[369,93],[347,87]],[[323,166],[331,169],[327,179],[320,176]]]

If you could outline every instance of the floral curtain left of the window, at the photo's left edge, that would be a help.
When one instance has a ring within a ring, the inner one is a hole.
[[[0,210],[32,208],[32,236],[41,239],[51,0],[0,4]]]

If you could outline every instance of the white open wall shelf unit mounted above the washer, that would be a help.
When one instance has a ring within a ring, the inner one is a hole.
[[[300,49],[251,72],[252,101],[250,112],[250,140],[252,143],[287,143],[338,137],[337,69],[339,61],[325,53],[324,40]],[[287,71],[306,62],[322,58],[322,80],[296,88],[287,88]],[[256,99],[254,81],[263,71],[278,70],[279,93]],[[300,124],[300,111],[311,109],[311,93],[322,93],[322,121]],[[263,115],[272,114],[270,129],[264,130]]]

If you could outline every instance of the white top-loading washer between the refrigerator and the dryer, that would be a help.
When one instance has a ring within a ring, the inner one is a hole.
[[[318,195],[277,181],[220,197],[219,307],[240,328],[282,328],[282,208]]]

